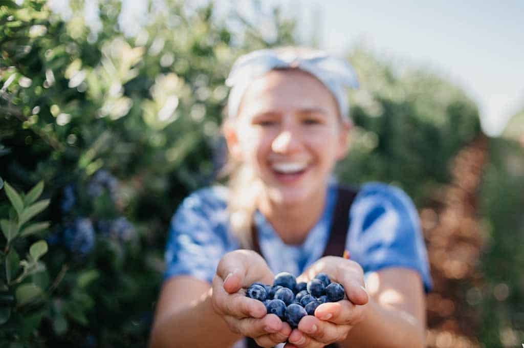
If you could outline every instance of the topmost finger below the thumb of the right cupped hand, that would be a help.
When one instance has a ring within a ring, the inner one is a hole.
[[[337,325],[354,325],[364,315],[364,306],[358,306],[348,300],[322,303],[315,310],[315,317]]]

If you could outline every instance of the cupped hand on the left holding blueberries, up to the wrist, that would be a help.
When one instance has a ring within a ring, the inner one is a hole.
[[[274,275],[264,258],[250,250],[225,254],[213,278],[215,312],[232,332],[251,337],[263,347],[286,342],[291,327],[275,314],[266,314],[264,303],[246,297],[244,288],[256,281],[272,285],[273,280]]]

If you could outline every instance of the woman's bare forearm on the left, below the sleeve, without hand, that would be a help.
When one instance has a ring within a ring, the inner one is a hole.
[[[231,347],[241,336],[213,310],[211,285],[191,276],[165,282],[156,306],[150,348]],[[203,329],[205,328],[205,329]]]

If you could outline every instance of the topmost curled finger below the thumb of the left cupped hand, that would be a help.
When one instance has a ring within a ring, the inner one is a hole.
[[[266,315],[264,303],[248,298],[243,293],[227,293],[219,276],[213,278],[213,306],[222,315],[242,318],[262,318]]]

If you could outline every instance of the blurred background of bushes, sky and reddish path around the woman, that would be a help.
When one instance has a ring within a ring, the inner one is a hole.
[[[280,45],[356,70],[336,173],[417,204],[428,346],[524,343],[523,15],[518,1],[0,1],[1,345],[147,344],[171,215],[224,163],[228,71]]]

